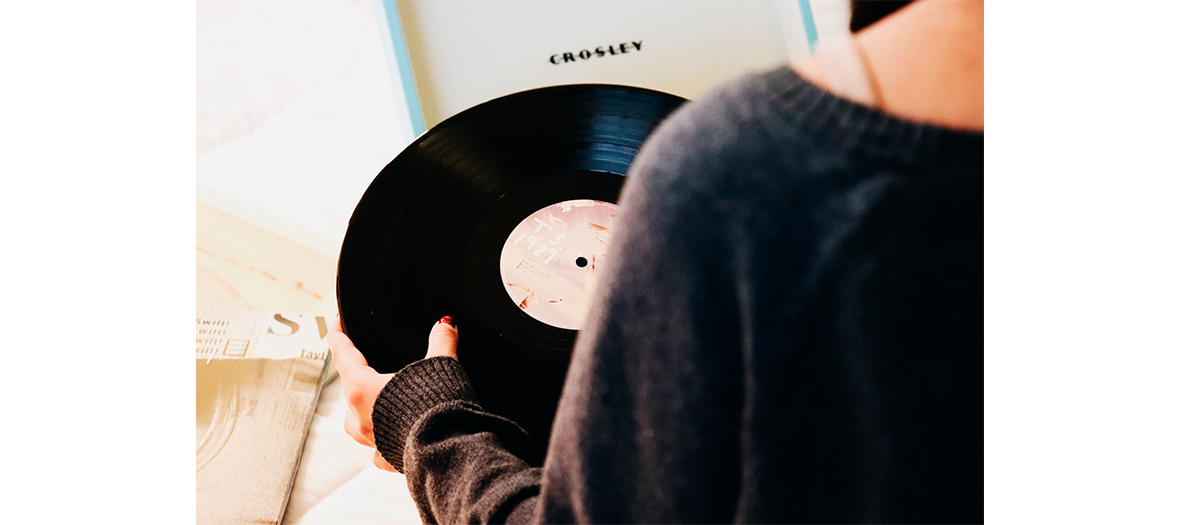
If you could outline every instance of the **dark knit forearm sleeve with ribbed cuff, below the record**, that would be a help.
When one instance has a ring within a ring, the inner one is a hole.
[[[458,361],[425,359],[398,372],[373,406],[373,434],[406,474],[424,523],[532,519],[540,470],[520,459],[527,434],[479,406]]]

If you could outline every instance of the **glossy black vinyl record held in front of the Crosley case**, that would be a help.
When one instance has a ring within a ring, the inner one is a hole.
[[[594,256],[576,252],[584,245],[544,238],[552,228],[535,217],[566,227],[545,210],[597,202],[573,211],[601,215],[601,203],[617,203],[640,146],[683,101],[628,86],[544,87],[471,107],[407,146],[356,205],[340,252],[341,321],[369,366],[392,373],[422,359],[431,327],[452,316],[479,402],[520,424],[538,461],[577,332],[526,310],[536,297],[510,295],[510,235],[517,251],[540,254],[537,267],[592,269]]]

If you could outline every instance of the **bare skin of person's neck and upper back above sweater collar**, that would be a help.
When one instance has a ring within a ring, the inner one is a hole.
[[[944,127],[983,131],[983,1],[924,0],[854,37],[880,86],[880,110]],[[795,66],[827,87],[814,59]]]

